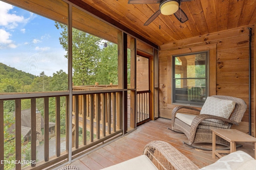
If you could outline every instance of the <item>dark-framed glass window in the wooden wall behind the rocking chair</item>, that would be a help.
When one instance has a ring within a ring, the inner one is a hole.
[[[203,105],[208,96],[209,52],[174,55],[172,103]]]

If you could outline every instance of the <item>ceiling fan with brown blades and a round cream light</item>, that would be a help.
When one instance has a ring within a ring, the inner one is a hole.
[[[180,8],[181,2],[186,2],[190,0],[129,0],[128,4],[159,4],[159,10],[155,12],[144,25],[150,24],[156,17],[160,14],[172,15],[181,22],[184,23],[188,20],[185,12]]]

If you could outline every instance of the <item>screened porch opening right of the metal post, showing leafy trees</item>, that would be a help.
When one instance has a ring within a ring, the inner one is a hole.
[[[82,10],[72,8],[72,80],[73,90],[106,90],[118,88],[118,42],[106,35],[106,23],[94,20]],[[61,24],[60,24],[61,25]],[[95,34],[98,27],[102,32]],[[118,30],[112,35],[118,36]],[[63,37],[68,41],[68,32]],[[111,41],[110,41],[111,40]],[[63,43],[61,43],[63,44]],[[68,43],[64,44],[68,47]]]

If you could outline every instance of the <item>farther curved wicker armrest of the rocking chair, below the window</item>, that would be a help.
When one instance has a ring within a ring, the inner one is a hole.
[[[194,107],[189,106],[176,106],[172,110],[172,129],[174,129],[174,121],[177,113],[184,113],[184,114],[190,114],[190,115],[199,115],[200,109],[196,109]]]

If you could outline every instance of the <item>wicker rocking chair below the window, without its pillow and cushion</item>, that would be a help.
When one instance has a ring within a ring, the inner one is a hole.
[[[188,137],[188,144],[192,143],[212,143],[211,129],[230,129],[233,124],[238,125],[241,122],[246,103],[244,100],[230,96],[211,96],[214,98],[232,100],[236,102],[235,108],[228,119],[216,115],[200,114],[200,110],[177,106],[172,111],[172,130],[184,133]],[[177,113],[196,115],[192,120],[191,126],[176,118]],[[229,143],[220,137],[216,137],[216,143],[229,147]]]

